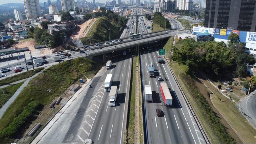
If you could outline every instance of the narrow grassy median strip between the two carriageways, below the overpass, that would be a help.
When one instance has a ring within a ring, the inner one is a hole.
[[[123,143],[143,143],[143,121],[139,74],[139,56],[133,56],[131,72],[130,97],[128,102],[127,129],[124,132]],[[136,113],[139,109],[139,113]],[[139,114],[139,116],[138,116]],[[137,132],[136,132],[137,131]],[[139,139],[138,139],[139,138]]]

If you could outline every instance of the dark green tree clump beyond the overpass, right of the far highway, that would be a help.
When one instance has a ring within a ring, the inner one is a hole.
[[[158,24],[160,27],[165,28],[166,22],[166,29],[171,28],[171,24],[168,19],[164,18],[160,12],[155,12],[153,22]]]

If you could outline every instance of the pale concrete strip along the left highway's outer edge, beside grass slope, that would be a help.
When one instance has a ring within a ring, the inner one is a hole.
[[[86,88],[86,86],[90,83],[92,79],[87,79],[86,83],[82,85],[82,88],[80,88],[77,92],[74,93],[74,95],[67,101],[67,103],[62,107],[62,109],[59,110],[49,121],[48,123],[43,127],[43,129],[38,133],[36,137],[34,137],[33,140],[31,140],[30,143],[38,143],[44,135],[47,133],[47,131],[51,128],[52,125],[62,116],[62,114],[65,113],[66,109],[72,104],[72,102],[79,96],[80,93],[83,92],[83,90]]]

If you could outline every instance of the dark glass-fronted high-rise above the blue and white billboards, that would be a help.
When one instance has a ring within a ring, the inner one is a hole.
[[[255,32],[255,0],[206,0],[204,26]]]

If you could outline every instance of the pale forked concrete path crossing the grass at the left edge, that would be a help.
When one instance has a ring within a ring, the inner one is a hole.
[[[34,78],[36,76],[38,76],[41,72],[31,76],[30,78]],[[28,85],[28,82],[30,81],[30,78],[27,78],[27,79],[22,79],[22,80],[19,80],[19,81],[16,81],[16,82],[13,82],[13,83],[10,83],[8,85],[4,85],[4,86],[1,86],[1,88],[4,88],[4,87],[7,87],[9,85],[12,85],[12,84],[15,84],[15,83],[19,83],[19,82],[22,82],[25,80],[25,82],[20,86],[20,88],[14,93],[14,95],[3,105],[3,107],[1,107],[0,109],[0,119],[2,118],[3,114],[5,113],[5,111],[7,110],[7,108],[10,106],[11,103],[14,102],[14,100],[17,98],[17,96],[20,94],[20,92],[23,90],[24,87],[26,87]]]

